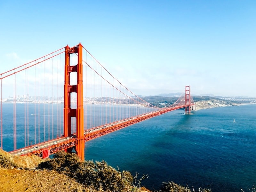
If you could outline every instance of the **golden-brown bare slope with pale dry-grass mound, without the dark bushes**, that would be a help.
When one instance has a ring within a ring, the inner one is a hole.
[[[85,186],[74,178],[55,170],[36,169],[37,165],[43,161],[45,160],[38,156],[13,156],[0,149],[0,192],[103,191],[101,188]],[[132,188],[131,186],[131,190]],[[149,191],[144,187],[136,189],[133,191]]]

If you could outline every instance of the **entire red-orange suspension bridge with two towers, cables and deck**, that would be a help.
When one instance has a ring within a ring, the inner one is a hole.
[[[13,144],[13,155],[47,158],[65,150],[84,160],[86,141],[180,108],[190,114],[194,106],[189,86],[169,107],[151,105],[112,76],[81,43],[0,76],[1,148]]]

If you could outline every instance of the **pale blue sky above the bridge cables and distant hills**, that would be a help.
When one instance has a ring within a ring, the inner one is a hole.
[[[256,97],[256,1],[0,1],[0,73],[81,44],[137,95]]]

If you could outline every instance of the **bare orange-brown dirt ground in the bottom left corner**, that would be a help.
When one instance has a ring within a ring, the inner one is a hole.
[[[54,171],[0,169],[0,191],[82,192],[84,187],[74,179]],[[95,190],[96,191],[96,190]]]

